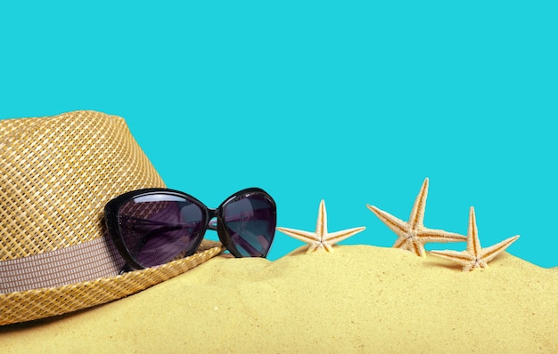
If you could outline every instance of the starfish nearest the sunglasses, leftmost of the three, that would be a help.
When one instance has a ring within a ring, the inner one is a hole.
[[[362,231],[365,228],[360,227],[354,229],[344,229],[342,231],[336,231],[332,233],[327,232],[327,214],[325,212],[325,202],[324,200],[322,200],[320,202],[320,207],[317,213],[316,232],[286,228],[276,229],[283,232],[283,234],[285,235],[300,239],[300,241],[309,244],[310,246],[308,247],[308,251],[306,252],[308,254],[316,252],[320,249],[323,249],[325,252],[333,252],[332,245],[335,245],[346,238],[356,235],[358,232]]]

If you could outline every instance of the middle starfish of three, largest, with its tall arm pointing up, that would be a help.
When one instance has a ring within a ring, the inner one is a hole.
[[[366,205],[388,228],[398,235],[393,244],[395,248],[403,248],[423,257],[424,244],[428,242],[464,242],[467,237],[443,229],[427,229],[423,225],[426,197],[428,196],[428,178],[423,182],[423,187],[414,200],[409,221],[402,221],[390,213],[373,206]]]

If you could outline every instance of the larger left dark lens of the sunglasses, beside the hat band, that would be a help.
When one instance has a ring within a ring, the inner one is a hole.
[[[200,206],[185,197],[135,197],[119,209],[119,229],[132,258],[144,268],[195,251],[205,227]]]

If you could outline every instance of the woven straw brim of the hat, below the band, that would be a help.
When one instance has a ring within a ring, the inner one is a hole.
[[[193,255],[144,270],[66,286],[0,294],[0,326],[83,310],[121,299],[174,278],[225,251],[218,242],[203,240]]]

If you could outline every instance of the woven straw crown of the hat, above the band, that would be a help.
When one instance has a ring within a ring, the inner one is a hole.
[[[0,120],[0,261],[103,237],[103,207],[165,187],[124,119],[94,111]]]

